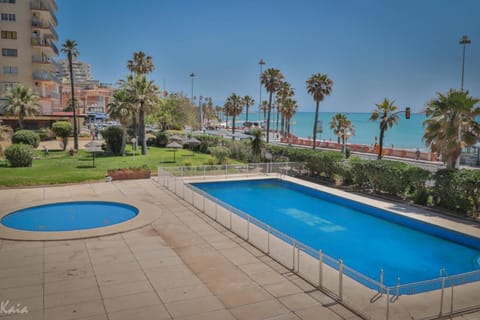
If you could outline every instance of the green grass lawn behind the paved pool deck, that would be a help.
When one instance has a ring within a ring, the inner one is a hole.
[[[92,167],[92,156],[84,150],[71,157],[67,151],[50,151],[45,156],[42,151],[36,151],[32,167],[7,167],[5,160],[0,160],[0,186],[28,186],[59,183],[76,183],[82,181],[100,180],[105,177],[108,169],[141,167],[147,165],[156,174],[158,166],[200,166],[208,164],[211,158],[208,154],[195,153],[190,150],[176,150],[176,162],[173,162],[173,149],[149,147],[147,156],[141,156],[137,151],[135,158],[131,149],[127,155],[107,156],[97,153],[95,168]],[[235,161],[229,161],[235,163]]]

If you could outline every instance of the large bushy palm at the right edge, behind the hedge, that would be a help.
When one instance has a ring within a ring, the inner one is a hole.
[[[427,119],[423,122],[427,146],[435,145],[447,168],[455,168],[462,152],[462,145],[474,145],[480,136],[479,99],[468,96],[468,91],[451,89],[446,95],[438,93],[425,109]]]

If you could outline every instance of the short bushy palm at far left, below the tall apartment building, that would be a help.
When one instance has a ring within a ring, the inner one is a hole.
[[[10,90],[6,96],[5,114],[18,118],[18,126],[23,129],[25,117],[37,115],[40,112],[39,98],[30,88],[19,85]]]

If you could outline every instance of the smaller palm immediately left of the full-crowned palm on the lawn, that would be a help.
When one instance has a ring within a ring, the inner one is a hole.
[[[123,127],[122,151],[125,154],[125,145],[127,142],[127,126],[134,112],[134,99],[127,94],[123,89],[118,89],[113,92],[112,102],[107,105],[107,113],[110,118],[118,120]]]

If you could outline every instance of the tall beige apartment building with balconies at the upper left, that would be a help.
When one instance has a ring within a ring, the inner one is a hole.
[[[0,1],[0,96],[22,84],[40,97],[42,114],[60,110],[56,10],[55,0]]]

